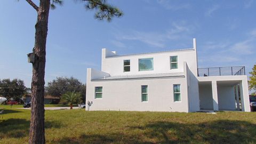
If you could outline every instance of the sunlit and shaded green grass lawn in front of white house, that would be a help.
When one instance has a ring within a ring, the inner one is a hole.
[[[30,110],[4,109],[0,143],[27,143]],[[256,113],[46,110],[46,143],[256,143]]]

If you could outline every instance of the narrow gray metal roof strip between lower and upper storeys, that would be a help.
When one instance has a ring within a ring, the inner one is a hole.
[[[127,79],[153,79],[153,78],[171,78],[185,77],[184,73],[164,73],[164,74],[146,74],[146,75],[124,75],[124,76],[109,76],[102,78],[91,79],[91,81],[121,81]]]

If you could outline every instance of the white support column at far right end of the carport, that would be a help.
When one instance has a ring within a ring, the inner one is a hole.
[[[249,102],[249,92],[248,92],[248,83],[247,77],[243,79],[242,82],[239,84],[240,87],[240,98],[242,104],[242,111],[251,111],[250,110],[250,102]]]

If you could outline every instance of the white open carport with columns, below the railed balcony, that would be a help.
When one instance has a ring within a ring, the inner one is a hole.
[[[250,111],[247,79],[233,77],[199,77],[199,106],[201,110]]]

